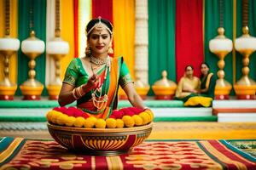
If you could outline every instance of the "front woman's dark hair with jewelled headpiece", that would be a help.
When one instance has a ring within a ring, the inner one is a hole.
[[[110,21],[106,19],[102,19],[102,17],[98,17],[96,19],[90,20],[90,22],[86,26],[86,34],[87,37],[90,37],[90,32],[96,27],[96,25],[102,24],[103,26],[106,27],[108,30],[109,34],[113,34],[113,26]]]

